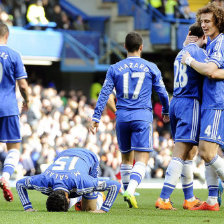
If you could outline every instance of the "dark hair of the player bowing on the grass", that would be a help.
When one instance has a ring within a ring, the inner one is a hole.
[[[49,212],[67,212],[68,206],[65,191],[62,190],[52,192],[46,202],[46,208]]]

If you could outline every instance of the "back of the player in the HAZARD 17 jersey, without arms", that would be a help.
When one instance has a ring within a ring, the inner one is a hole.
[[[152,73],[158,72],[156,65],[140,57],[128,57],[113,69],[117,109],[152,109]]]

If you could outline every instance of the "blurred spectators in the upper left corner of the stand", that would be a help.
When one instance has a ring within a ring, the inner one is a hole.
[[[0,0],[0,21],[9,26],[55,23],[58,29],[88,30],[82,16],[71,19],[58,0]]]

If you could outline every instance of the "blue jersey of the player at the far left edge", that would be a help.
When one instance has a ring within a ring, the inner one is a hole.
[[[0,117],[18,115],[16,80],[27,78],[19,53],[0,45]]]

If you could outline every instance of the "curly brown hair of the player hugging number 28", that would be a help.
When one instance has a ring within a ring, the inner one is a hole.
[[[199,24],[201,24],[201,14],[204,13],[213,13],[214,24],[217,26],[220,33],[224,33],[224,10],[215,3],[208,3],[206,6],[199,9],[196,14]]]

